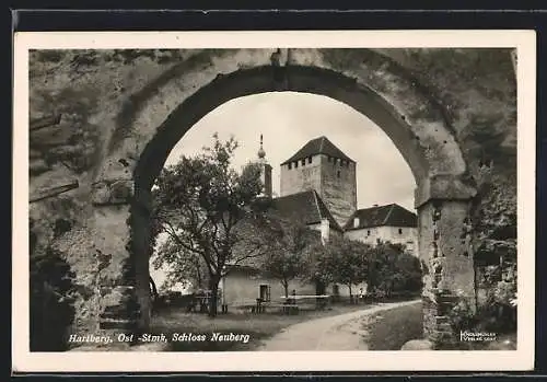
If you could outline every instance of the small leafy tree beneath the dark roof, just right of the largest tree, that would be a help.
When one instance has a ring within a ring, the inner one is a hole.
[[[261,263],[263,271],[281,282],[284,297],[289,297],[289,282],[304,278],[309,268],[309,253],[317,235],[299,217],[283,218],[275,212],[268,213],[269,222],[263,232],[266,255]]]

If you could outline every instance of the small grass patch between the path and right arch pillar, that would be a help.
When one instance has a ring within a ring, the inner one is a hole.
[[[421,303],[382,311],[365,319],[364,339],[370,350],[400,350],[410,339],[422,337]]]

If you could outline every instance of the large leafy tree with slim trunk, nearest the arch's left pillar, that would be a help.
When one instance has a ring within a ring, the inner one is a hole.
[[[228,265],[260,254],[259,243],[244,229],[256,213],[253,204],[261,192],[260,169],[246,165],[241,173],[231,167],[237,142],[232,137],[194,158],[182,157],[163,169],[155,182],[155,218],[187,253],[205,262],[211,291],[209,315],[217,315],[219,281]],[[245,245],[241,245],[245,242]],[[244,251],[234,251],[238,246]]]

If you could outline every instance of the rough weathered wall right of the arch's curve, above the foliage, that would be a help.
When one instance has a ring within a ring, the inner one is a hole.
[[[496,184],[496,209],[516,208],[516,80],[511,49],[380,49],[445,111],[469,176]],[[505,205],[502,207],[501,205]],[[497,217],[492,219],[504,219]],[[509,220],[509,219],[508,219]],[[514,224],[514,222],[511,222]]]

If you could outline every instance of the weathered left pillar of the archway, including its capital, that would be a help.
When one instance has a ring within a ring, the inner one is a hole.
[[[150,321],[148,258],[140,262],[146,261],[144,268],[133,251],[133,239],[139,239],[132,232],[139,222],[133,195],[132,180],[101,180],[93,185],[101,331],[132,333],[146,329]]]

